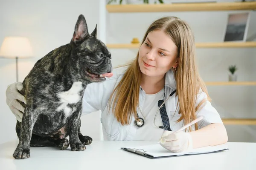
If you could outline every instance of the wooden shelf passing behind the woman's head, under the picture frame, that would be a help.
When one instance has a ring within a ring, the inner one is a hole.
[[[247,48],[256,47],[256,41],[248,42],[216,42],[216,43],[195,43],[197,48]],[[121,43],[121,44],[107,44],[111,49],[138,49],[140,43]]]

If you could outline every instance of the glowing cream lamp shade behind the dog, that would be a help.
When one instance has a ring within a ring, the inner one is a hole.
[[[0,49],[0,57],[32,57],[32,47],[27,37],[5,37]]]

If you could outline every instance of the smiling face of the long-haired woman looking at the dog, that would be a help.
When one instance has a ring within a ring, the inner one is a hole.
[[[177,66],[177,46],[161,30],[148,33],[139,49],[139,66],[147,76],[161,76]]]

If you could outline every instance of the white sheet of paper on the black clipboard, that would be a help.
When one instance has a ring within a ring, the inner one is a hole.
[[[159,157],[159,156],[176,156],[176,155],[181,156],[185,154],[210,153],[210,152],[219,151],[219,150],[227,150],[228,145],[221,144],[221,145],[211,146],[211,147],[201,147],[201,148],[193,149],[189,152],[180,152],[180,153],[172,153],[171,151],[163,148],[160,144],[144,145],[144,146],[136,146],[136,147],[131,146],[131,147],[125,147],[125,148],[140,150],[153,157]]]

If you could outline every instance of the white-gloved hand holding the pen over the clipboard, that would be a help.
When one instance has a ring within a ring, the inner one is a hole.
[[[160,139],[160,145],[171,152],[184,152],[193,149],[192,137],[183,131],[174,133],[165,130]]]

